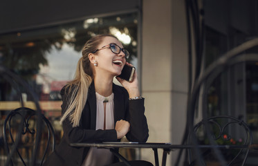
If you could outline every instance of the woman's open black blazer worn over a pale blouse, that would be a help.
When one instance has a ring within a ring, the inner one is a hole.
[[[147,120],[144,115],[144,99],[129,100],[129,95],[125,88],[113,84],[114,93],[114,122],[117,120],[127,120],[130,123],[130,131],[126,137],[133,142],[146,142],[149,137]],[[68,94],[61,91],[62,113],[66,111]],[[102,142],[120,141],[117,139],[115,129],[95,130],[96,124],[96,96],[94,83],[89,87],[88,98],[82,111],[79,127],[72,127],[71,121],[66,119],[63,122],[64,136],[61,142],[47,158],[46,165],[82,165],[89,147],[71,147],[71,142]]]

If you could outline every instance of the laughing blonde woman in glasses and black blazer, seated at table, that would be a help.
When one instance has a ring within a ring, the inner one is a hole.
[[[118,162],[108,149],[71,147],[71,142],[146,142],[149,136],[144,98],[137,74],[133,82],[116,77],[129,53],[112,35],[97,35],[84,45],[75,78],[64,86],[62,126],[64,136],[44,165],[101,166]],[[122,86],[113,84],[116,77]],[[142,164],[144,165],[144,164]]]

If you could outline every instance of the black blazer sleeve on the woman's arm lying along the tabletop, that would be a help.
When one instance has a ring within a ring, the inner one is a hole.
[[[68,103],[68,95],[65,93],[64,88],[61,91],[62,95],[62,114],[66,111],[66,105]],[[66,142],[96,142],[96,141],[117,141],[117,133],[115,129],[109,130],[93,130],[84,129],[81,124],[78,127],[73,127],[72,122],[66,118],[62,122],[64,130],[64,138]]]

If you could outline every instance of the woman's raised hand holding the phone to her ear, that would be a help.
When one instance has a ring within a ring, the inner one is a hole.
[[[126,62],[125,65],[133,66],[132,64],[129,64]],[[122,86],[127,89],[127,92],[129,93],[129,98],[134,98],[140,96],[139,87],[138,87],[138,77],[136,71],[133,75],[133,82],[127,82],[126,80],[122,80],[120,77],[116,77],[116,80],[122,84]]]

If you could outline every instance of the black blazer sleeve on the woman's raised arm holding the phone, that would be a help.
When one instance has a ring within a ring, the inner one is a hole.
[[[149,137],[147,119],[145,117],[145,99],[128,100],[126,120],[130,123],[127,140],[133,142],[146,142]]]

